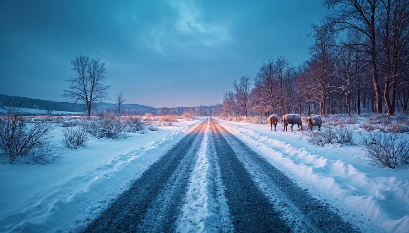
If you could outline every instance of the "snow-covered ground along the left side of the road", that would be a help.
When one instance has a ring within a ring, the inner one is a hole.
[[[0,165],[0,232],[68,232],[83,225],[199,122],[123,140],[90,138],[85,148],[45,166]],[[60,130],[53,130],[55,142]]]

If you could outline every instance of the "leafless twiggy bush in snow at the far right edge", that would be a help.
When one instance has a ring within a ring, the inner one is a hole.
[[[363,138],[362,143],[366,149],[366,157],[373,166],[408,167],[409,140],[398,133],[369,133],[368,138]]]

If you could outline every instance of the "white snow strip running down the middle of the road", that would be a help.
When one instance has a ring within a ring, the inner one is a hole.
[[[222,184],[216,184],[219,187],[217,197],[210,193],[213,183],[217,183],[215,180],[220,180],[220,174],[212,177],[215,172],[211,169],[215,168],[210,167],[208,161],[209,157],[215,154],[210,124],[207,122],[185,204],[182,206],[182,214],[177,221],[177,232],[232,232],[224,187],[221,187]]]

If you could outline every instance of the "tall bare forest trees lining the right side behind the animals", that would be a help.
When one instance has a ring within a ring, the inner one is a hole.
[[[325,0],[309,58],[279,56],[223,93],[226,116],[408,110],[409,0]]]

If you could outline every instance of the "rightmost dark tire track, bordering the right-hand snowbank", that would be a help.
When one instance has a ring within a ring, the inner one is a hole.
[[[312,198],[283,172],[268,163],[220,124],[215,122],[214,125],[225,138],[226,144],[232,148],[233,154],[251,174],[257,187],[271,202],[275,203],[275,208],[282,212],[283,219],[293,231],[358,232],[352,225],[344,222],[339,214],[334,213],[329,205]]]

